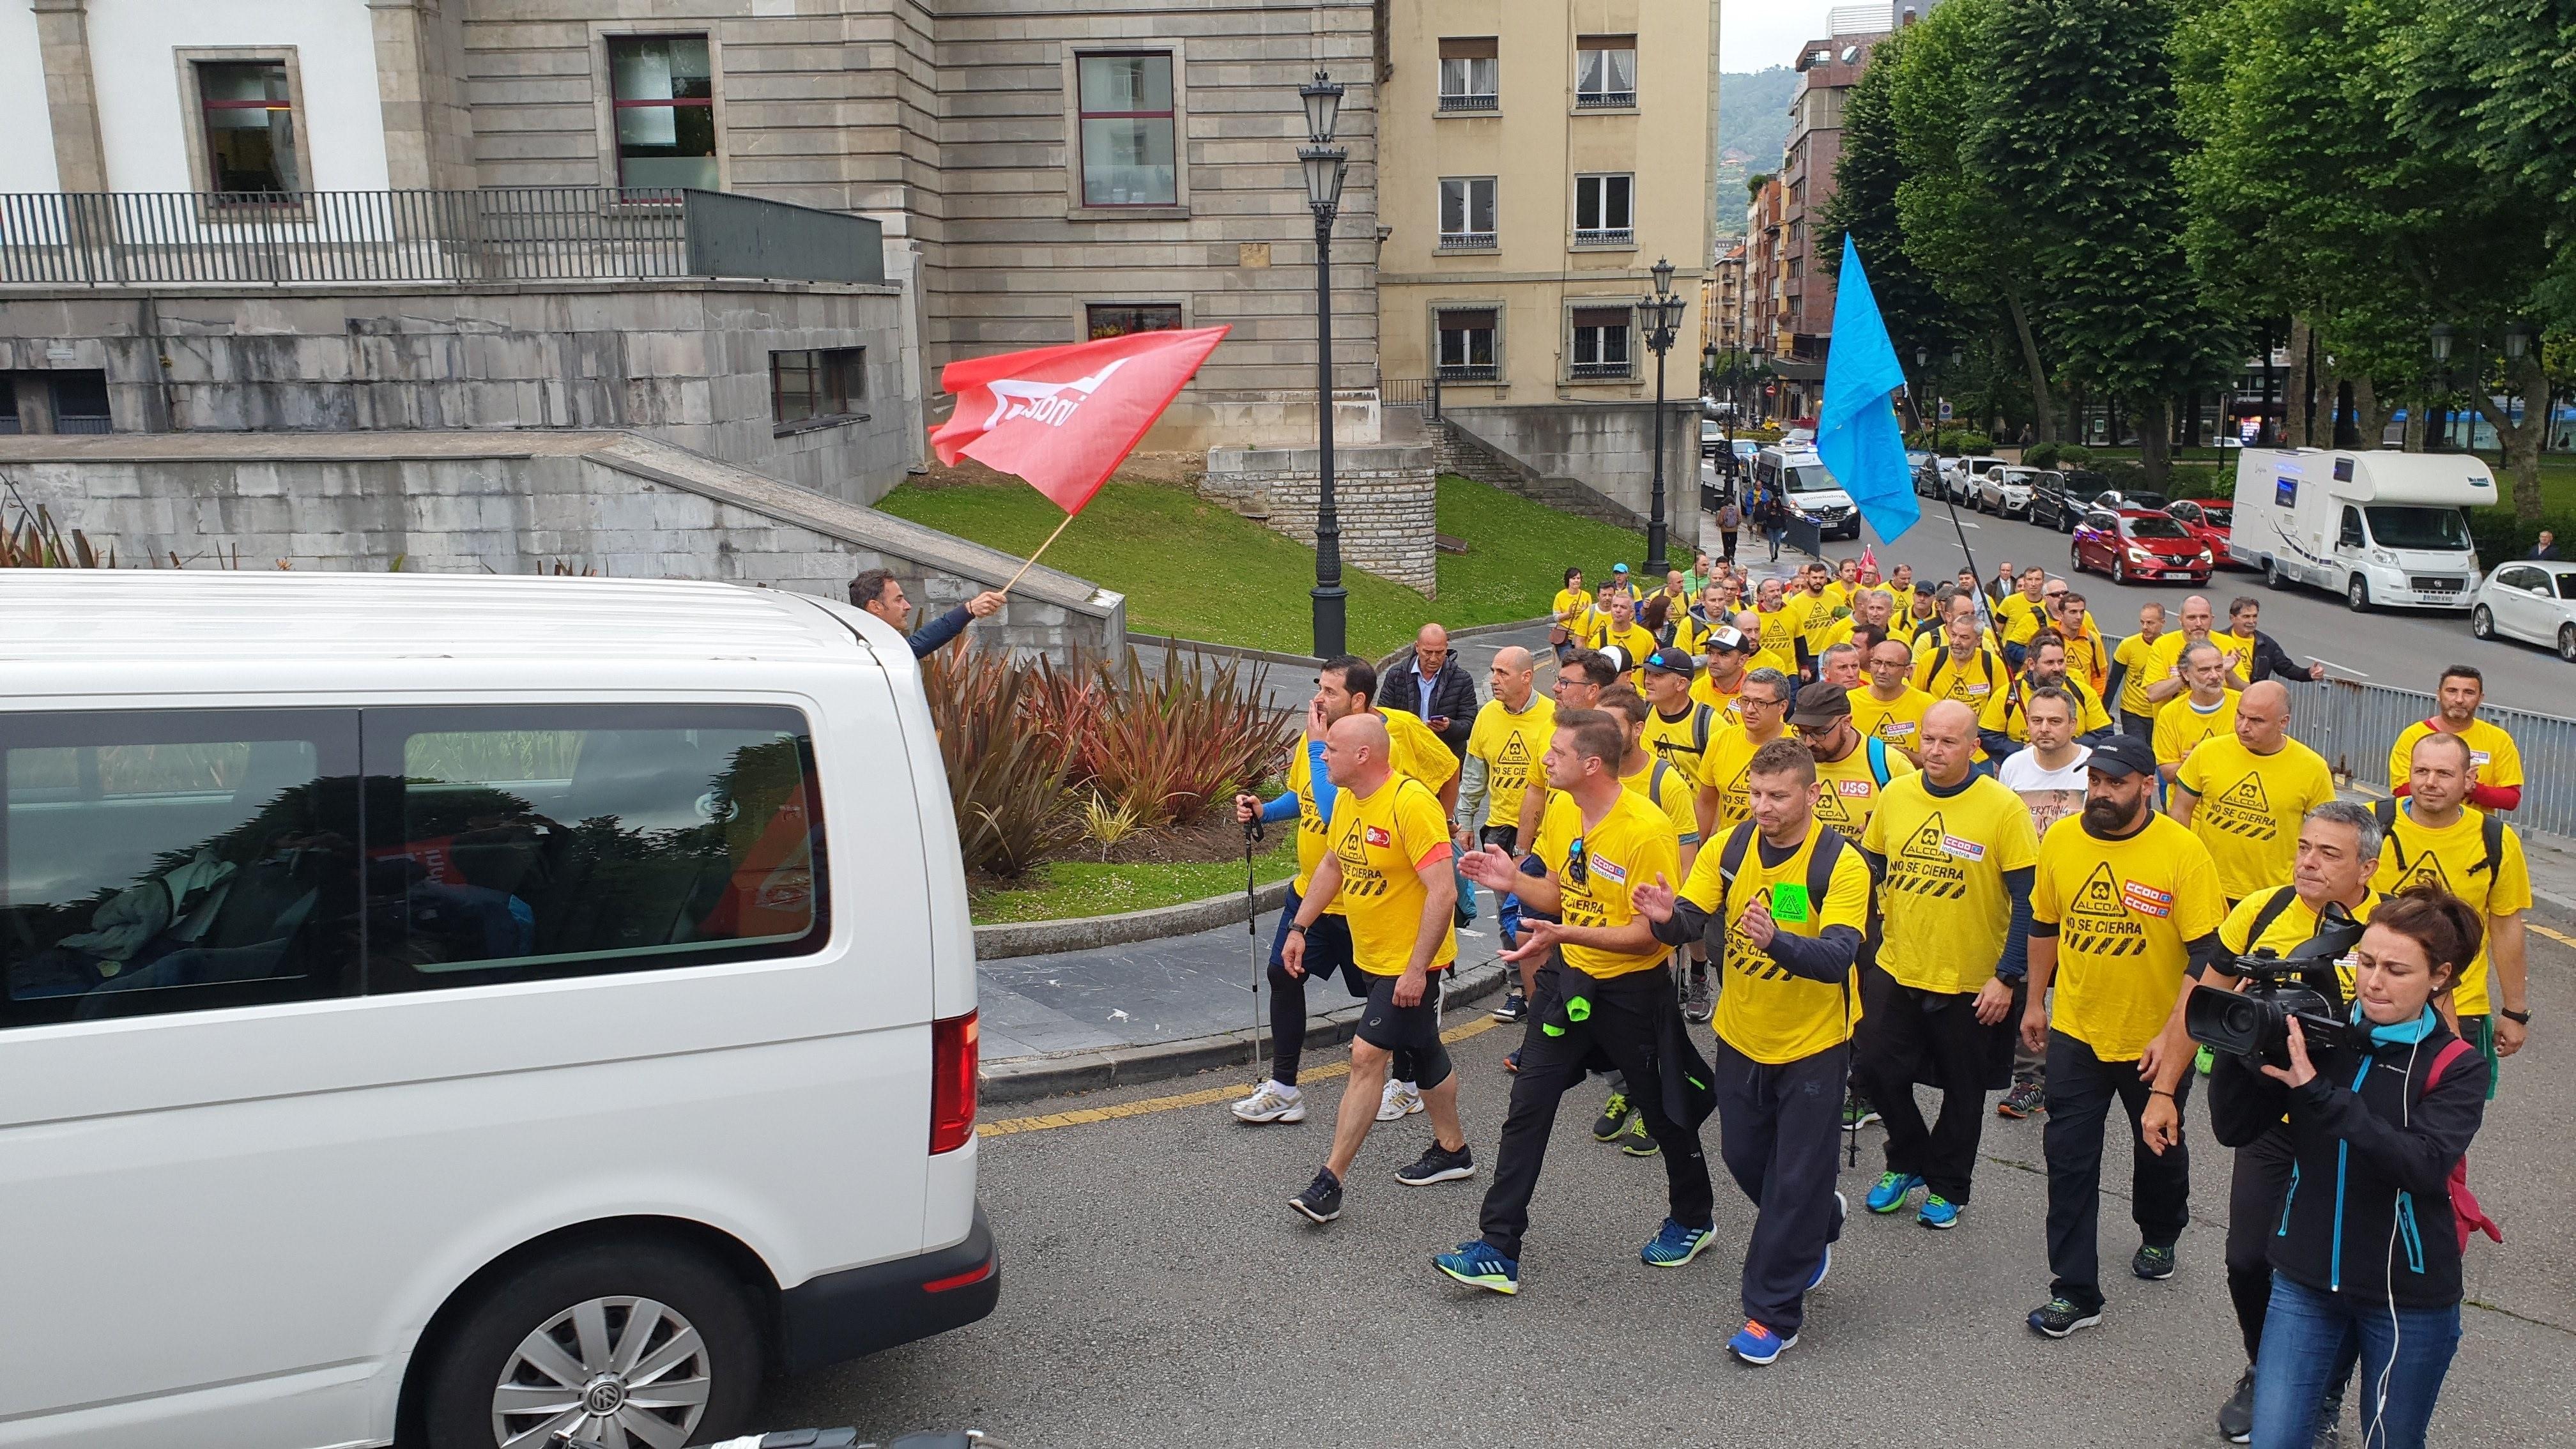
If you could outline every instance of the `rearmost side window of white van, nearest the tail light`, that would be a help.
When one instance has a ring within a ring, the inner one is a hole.
[[[783,706],[368,709],[368,993],[822,944],[814,743]]]

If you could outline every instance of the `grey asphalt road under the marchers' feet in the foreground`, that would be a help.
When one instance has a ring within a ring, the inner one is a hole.
[[[2442,1444],[2568,1444],[2576,1423],[2576,951],[2532,938],[2532,1047],[2470,1152],[2504,1225],[2470,1248],[2465,1341]],[[1461,1016],[1455,1024],[1473,1024]],[[1489,1165],[1515,1031],[1455,1044],[1468,1140]],[[1324,1052],[1321,1062],[1337,1060]],[[1239,1073],[1010,1109],[1025,1122],[1231,1088]],[[1718,1168],[1718,1248],[1646,1269],[1662,1168],[1592,1142],[1600,1091],[1566,1098],[1520,1297],[1463,1289],[1430,1256],[1471,1238],[1484,1178],[1404,1189],[1430,1137],[1381,1127],[1340,1222],[1288,1209],[1321,1160],[1337,1080],[1311,1080],[1298,1127],[1239,1127],[1221,1101],[1064,1122],[981,1142],[1002,1240],[1002,1307],[943,1338],[770,1387],[768,1428],[855,1423],[891,1439],[974,1426],[1007,1449],[1159,1444],[2050,1444],[2218,1446],[2213,1413],[2241,1369],[2221,1269],[2226,1152],[2187,1114],[2195,1225],[2164,1284],[2120,1274],[2136,1230],[2105,1160],[2102,1328],[2063,1343],[2022,1315],[2045,1297],[2040,1124],[1989,1119],[1976,1201],[1953,1232],[1868,1217],[1878,1129],[1842,1173],[1852,1222],[1803,1341],[1770,1369],[1723,1354],[1744,1320],[1736,1271],[1752,1212]],[[1710,1122],[1708,1132],[1716,1132]],[[1716,1140],[1710,1137],[1710,1147]],[[1716,1165],[1716,1158],[1710,1155]],[[2347,1444],[2360,1444],[2347,1415]]]

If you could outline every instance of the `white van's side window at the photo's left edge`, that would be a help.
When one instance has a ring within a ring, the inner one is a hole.
[[[0,1026],[345,995],[358,712],[0,714]]]

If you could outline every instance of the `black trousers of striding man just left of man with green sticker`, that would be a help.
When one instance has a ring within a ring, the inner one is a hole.
[[[1584,1060],[1595,1052],[1638,1083],[1628,1101],[1662,1147],[1672,1220],[1682,1227],[1708,1227],[1716,1189],[1708,1181],[1700,1132],[1664,1116],[1664,1093],[1651,1085],[1662,1080],[1654,1060],[1654,1042],[1664,1026],[1659,1018],[1682,1013],[1672,993],[1672,967],[1592,980],[1582,990],[1592,1006],[1584,1021],[1564,1018],[1564,993],[1566,969],[1556,959],[1538,967],[1530,1031],[1520,1044],[1520,1075],[1512,1078],[1512,1109],[1502,1119],[1502,1147],[1494,1152],[1494,1186],[1484,1191],[1479,1220],[1484,1240],[1504,1258],[1520,1258],[1520,1235],[1530,1230],[1530,1191],[1538,1189],[1538,1168],[1548,1160],[1548,1134],[1556,1129],[1556,1101],[1584,1080]],[[1546,1024],[1561,1026],[1564,1034],[1548,1034]]]

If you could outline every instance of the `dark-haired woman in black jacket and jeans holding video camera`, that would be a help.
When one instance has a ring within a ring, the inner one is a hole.
[[[2272,1232],[2272,1305],[2254,1366],[2254,1446],[2308,1449],[2347,1338],[2362,1354],[2365,1441],[2424,1444],[2460,1346],[2452,1168],[2486,1114],[2486,1057],[2434,998],[2478,959],[2483,923],[2419,887],[2370,915],[2342,1031],[2287,1018],[2287,1042],[2210,1070],[2210,1124],[2241,1147],[2285,1122],[2298,1165]]]

